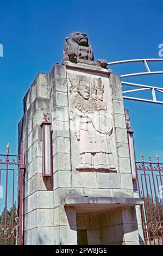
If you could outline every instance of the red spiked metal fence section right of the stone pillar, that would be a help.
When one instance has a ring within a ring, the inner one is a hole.
[[[143,199],[141,207],[143,233],[146,245],[163,245],[163,163],[159,162],[136,162],[137,185],[140,197]]]

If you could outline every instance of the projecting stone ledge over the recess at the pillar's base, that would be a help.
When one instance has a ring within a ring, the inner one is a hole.
[[[120,207],[132,207],[142,204],[141,198],[117,197],[66,197],[65,207],[73,207],[78,213],[106,212]]]

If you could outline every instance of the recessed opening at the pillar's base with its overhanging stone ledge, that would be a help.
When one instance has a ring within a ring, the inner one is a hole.
[[[143,244],[136,216],[136,207],[141,203],[141,198],[66,197],[65,211],[67,220],[70,219],[70,232],[72,217],[68,212],[72,209],[76,211],[75,227],[80,234],[80,239],[77,235],[78,245]],[[81,234],[84,234],[83,243]]]

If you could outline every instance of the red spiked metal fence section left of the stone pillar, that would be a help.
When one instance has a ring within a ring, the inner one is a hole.
[[[22,217],[23,217],[23,150],[21,145],[20,155],[9,155],[9,144],[7,145],[7,154],[0,154],[1,164],[5,168],[0,168],[0,186],[4,184],[5,193],[0,212],[0,244],[1,245],[22,245]],[[13,168],[9,168],[12,167]],[[15,188],[15,173],[18,167],[18,187]],[[10,175],[12,173],[12,175]],[[4,174],[4,175],[3,175]],[[4,176],[4,177],[3,177]],[[17,207],[15,205],[15,192],[17,191]],[[8,200],[11,201],[11,210],[8,209]]]

